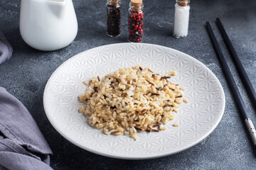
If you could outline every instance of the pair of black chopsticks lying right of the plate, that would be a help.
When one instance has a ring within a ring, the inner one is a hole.
[[[228,34],[226,33],[223,24],[220,21],[220,18],[216,18],[216,24],[218,26],[218,29],[220,30],[220,33],[223,37],[223,40],[225,41],[228,50],[230,51],[230,55],[233,58],[233,61],[235,62],[235,67],[238,69],[238,73],[240,75],[240,79],[242,79],[242,82],[245,85],[245,89],[247,90],[247,93],[250,96],[250,99],[254,106],[256,106],[256,94],[255,90],[252,87],[252,84],[250,82],[250,79],[247,77],[247,74],[245,72],[244,67],[242,67],[242,63],[240,62],[237,53],[235,52],[235,48],[233,47],[230,39],[228,38]],[[225,73],[225,76],[228,80],[228,84],[230,86],[231,91],[233,92],[233,95],[235,96],[235,101],[238,104],[238,108],[240,109],[240,112],[242,113],[242,116],[245,118],[245,124],[247,126],[247,130],[250,132],[250,136],[252,139],[253,144],[256,146],[256,130],[254,125],[252,124],[252,120],[250,120],[250,117],[246,111],[245,103],[242,101],[242,97],[240,95],[240,92],[238,91],[238,86],[236,86],[235,81],[233,79],[233,76],[230,72],[230,69],[228,68],[228,64],[223,56],[223,52],[220,50],[220,45],[218,44],[218,41],[215,38],[215,35],[213,33],[212,28],[210,27],[210,23],[206,22],[206,29],[208,31],[208,35],[210,36],[210,40],[213,43],[213,47],[215,48],[215,52],[218,55],[218,58],[220,60],[220,64],[223,67],[223,71]]]

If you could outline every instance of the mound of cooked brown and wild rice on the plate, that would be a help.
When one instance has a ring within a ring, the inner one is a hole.
[[[176,72],[159,75],[137,65],[107,74],[101,81],[94,77],[79,96],[87,105],[79,111],[105,135],[129,134],[137,140],[137,130],[165,130],[161,123],[173,120],[172,111],[178,112],[178,104],[187,102],[178,84],[168,81],[170,75]]]

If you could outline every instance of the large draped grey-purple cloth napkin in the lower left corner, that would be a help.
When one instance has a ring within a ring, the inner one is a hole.
[[[0,169],[51,169],[46,139],[21,101],[0,87]]]

